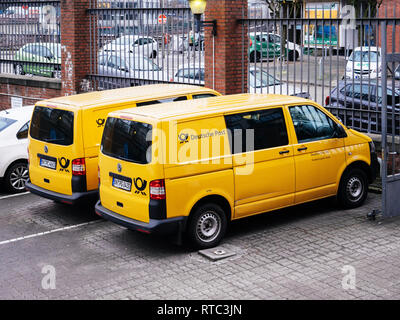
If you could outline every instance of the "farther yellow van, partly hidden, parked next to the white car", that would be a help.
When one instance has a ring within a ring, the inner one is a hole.
[[[26,188],[67,204],[97,197],[99,145],[109,112],[219,95],[200,86],[159,84],[40,101],[29,131]]]

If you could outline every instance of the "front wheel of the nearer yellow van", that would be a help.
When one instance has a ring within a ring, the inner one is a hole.
[[[366,173],[358,168],[346,170],[340,181],[338,201],[346,209],[358,208],[368,196]]]

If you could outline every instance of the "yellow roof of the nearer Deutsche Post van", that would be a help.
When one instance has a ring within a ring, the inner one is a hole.
[[[112,112],[110,116],[141,116],[156,120],[184,119],[195,116],[205,116],[216,112],[233,112],[248,107],[274,107],[291,103],[312,103],[310,100],[278,95],[278,94],[235,94],[198,100],[186,100],[173,103],[149,105],[140,108],[129,108]]]

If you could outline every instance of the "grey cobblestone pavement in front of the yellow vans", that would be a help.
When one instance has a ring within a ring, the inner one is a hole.
[[[370,194],[356,210],[323,200],[237,221],[221,244],[236,255],[213,262],[89,208],[1,199],[0,299],[398,299],[400,219],[367,220],[376,208]],[[48,265],[55,289],[42,288]]]

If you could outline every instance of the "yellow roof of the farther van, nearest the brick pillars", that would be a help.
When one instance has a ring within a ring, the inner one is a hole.
[[[106,91],[94,91],[40,101],[41,106],[60,105],[72,109],[91,108],[109,104],[147,99],[161,99],[179,94],[204,93],[213,91],[201,86],[185,84],[154,84]]]

